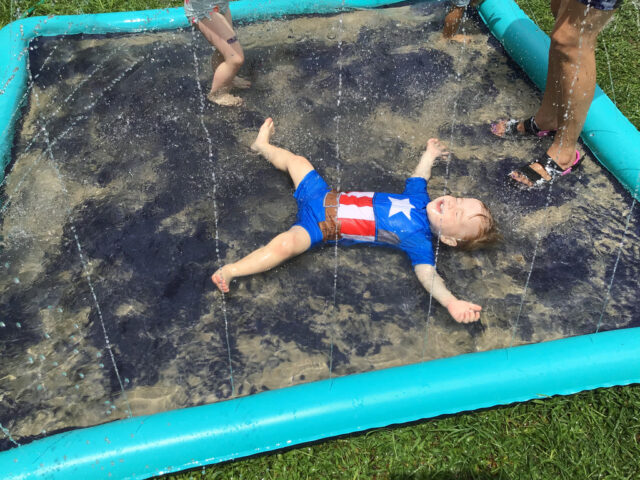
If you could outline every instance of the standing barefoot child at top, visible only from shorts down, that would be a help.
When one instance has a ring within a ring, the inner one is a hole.
[[[207,98],[218,105],[242,105],[242,98],[232,95],[230,90],[249,88],[250,83],[236,76],[244,63],[244,52],[231,24],[229,1],[184,0],[184,13],[216,48],[211,56],[213,81]]]

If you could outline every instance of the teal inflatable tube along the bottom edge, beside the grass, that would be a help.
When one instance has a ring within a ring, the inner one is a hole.
[[[375,427],[640,380],[640,329],[460,355],[54,435],[5,480],[145,479]]]

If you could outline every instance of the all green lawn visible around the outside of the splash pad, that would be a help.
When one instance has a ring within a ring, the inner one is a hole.
[[[180,6],[153,0],[2,0],[0,25],[32,15]],[[635,3],[634,3],[635,2]],[[546,32],[546,0],[518,0]],[[640,125],[640,13],[625,0],[601,34],[598,83]],[[191,479],[640,479],[640,386],[459,414],[163,477]]]

